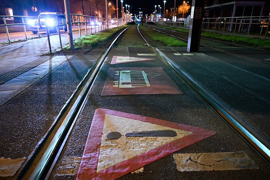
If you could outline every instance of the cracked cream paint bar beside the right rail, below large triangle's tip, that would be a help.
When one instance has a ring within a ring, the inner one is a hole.
[[[179,171],[259,169],[245,152],[173,154]]]

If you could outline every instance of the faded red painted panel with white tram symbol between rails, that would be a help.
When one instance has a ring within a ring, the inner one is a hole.
[[[123,90],[125,88],[125,90]],[[161,67],[115,67],[109,73],[102,96],[128,94],[183,94]]]

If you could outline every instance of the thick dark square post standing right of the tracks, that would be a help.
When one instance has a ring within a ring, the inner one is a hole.
[[[204,1],[193,0],[190,14],[188,33],[188,52],[198,52],[200,47],[200,34],[202,32],[202,13]]]

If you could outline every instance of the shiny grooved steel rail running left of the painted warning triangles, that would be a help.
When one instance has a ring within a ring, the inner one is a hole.
[[[130,27],[130,26],[129,26]],[[97,61],[95,66],[90,69],[87,74],[84,76],[84,79],[78,85],[76,91],[72,94],[70,99],[67,101],[65,106],[61,109],[59,115],[56,118],[56,121],[63,119],[61,125],[55,123],[50,129],[50,133],[44,138],[39,147],[43,147],[43,149],[38,149],[34,155],[32,155],[31,160],[22,167],[20,174],[16,177],[17,179],[48,179],[51,171],[54,168],[54,165],[61,154],[65,143],[70,136],[72,128],[82,110],[82,107],[86,101],[88,94],[90,93],[92,86],[97,78],[97,75],[100,72],[101,67],[105,61],[105,58],[113,48],[116,40],[121,36],[121,34],[128,29],[129,27],[122,30],[122,32],[113,40],[110,47],[107,51],[102,55],[102,57]],[[58,125],[57,125],[58,124]],[[56,131],[54,134],[53,131]],[[49,139],[51,136],[51,141]],[[46,144],[48,144],[46,146]],[[40,152],[43,152],[42,155],[39,155]],[[36,166],[33,170],[29,170],[30,165],[34,164],[35,157],[39,156],[40,159],[36,162]],[[24,171],[25,170],[25,171]],[[26,172],[28,171],[28,172]]]

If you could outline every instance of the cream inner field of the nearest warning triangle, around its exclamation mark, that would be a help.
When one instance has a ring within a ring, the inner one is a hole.
[[[157,130],[173,130],[177,133],[175,137],[126,137],[129,132],[139,131],[157,131]],[[107,139],[110,132],[119,132],[122,137],[117,140]],[[105,115],[103,134],[101,138],[101,147],[99,151],[99,161],[97,172],[119,164],[125,160],[136,157],[149,150],[158,148],[180,139],[192,132],[165,127],[162,125],[147,123],[134,119],[118,117],[113,115]]]

